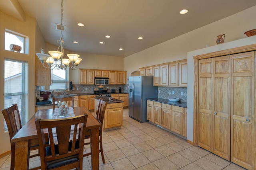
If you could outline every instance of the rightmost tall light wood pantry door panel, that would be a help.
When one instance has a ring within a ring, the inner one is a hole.
[[[246,169],[254,169],[254,89],[255,52],[233,57],[231,161]]]

